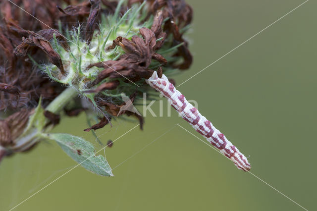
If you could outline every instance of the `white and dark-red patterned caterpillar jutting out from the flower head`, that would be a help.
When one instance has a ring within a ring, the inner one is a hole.
[[[230,158],[239,169],[250,170],[251,165],[248,159],[205,116],[200,114],[197,108],[188,103],[186,98],[175,89],[164,74],[159,78],[158,73],[154,71],[146,82],[158,90],[183,119],[188,121],[197,132],[202,134],[223,155]]]

